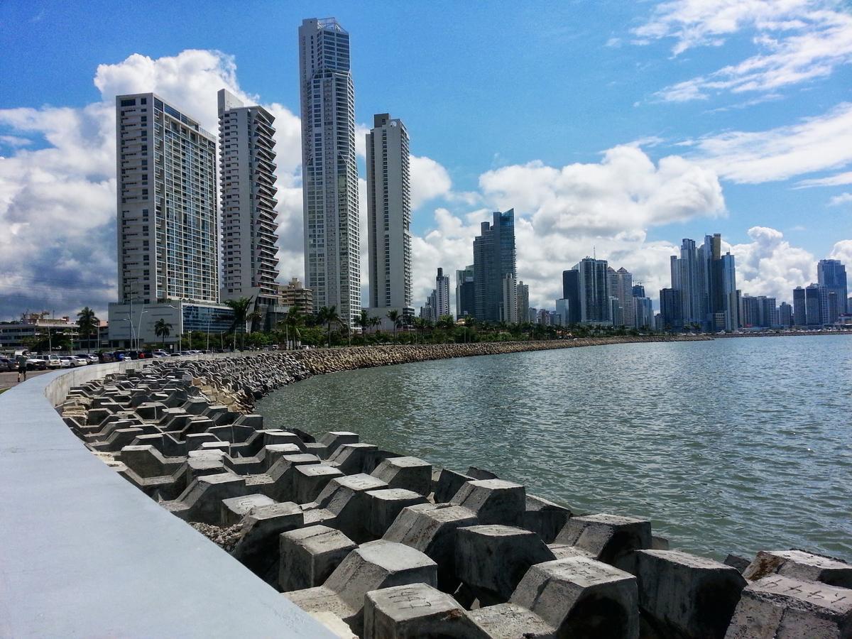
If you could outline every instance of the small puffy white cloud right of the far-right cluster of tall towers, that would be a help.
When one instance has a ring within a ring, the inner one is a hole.
[[[816,259],[809,251],[792,246],[784,233],[769,227],[751,227],[751,242],[733,245],[737,288],[749,295],[792,302],[792,290],[816,277]]]

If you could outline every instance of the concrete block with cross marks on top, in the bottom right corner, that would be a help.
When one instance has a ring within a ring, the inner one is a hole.
[[[846,639],[852,590],[774,575],[742,591],[725,639]]]

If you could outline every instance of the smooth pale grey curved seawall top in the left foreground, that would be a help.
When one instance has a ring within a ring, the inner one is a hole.
[[[54,371],[0,395],[0,636],[331,637],[55,411],[72,386],[146,364]]]

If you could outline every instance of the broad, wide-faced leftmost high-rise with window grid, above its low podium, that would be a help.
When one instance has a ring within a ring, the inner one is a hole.
[[[153,93],[115,107],[118,300],[218,302],[216,135]]]

